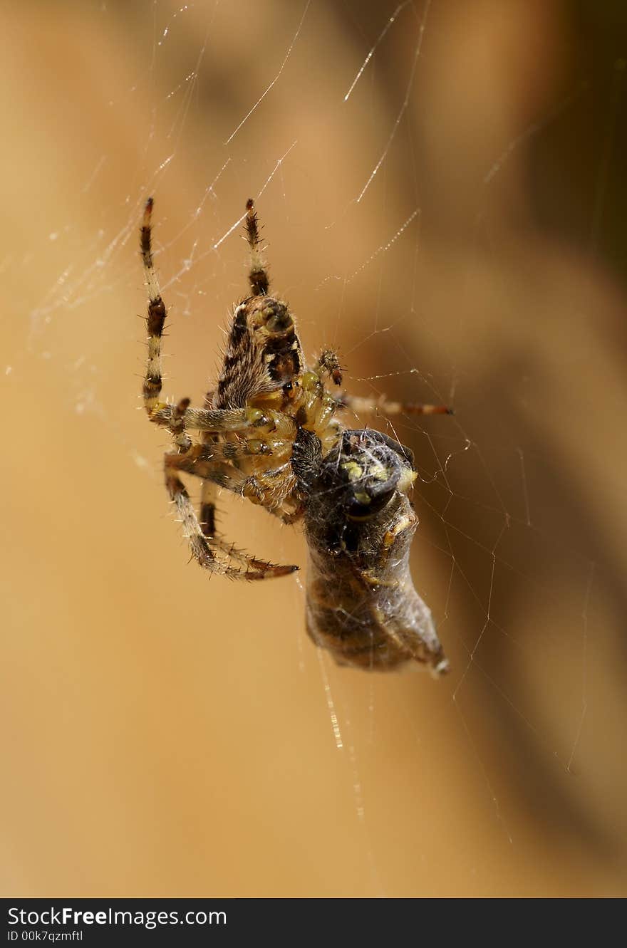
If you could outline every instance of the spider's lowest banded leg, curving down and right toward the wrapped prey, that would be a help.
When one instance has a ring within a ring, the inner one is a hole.
[[[210,573],[230,576],[231,579],[270,579],[277,576],[286,576],[294,573],[297,566],[275,566],[265,560],[248,556],[241,550],[236,550],[226,544],[223,538],[205,536],[194,511],[194,505],[184,483],[178,477],[174,459],[181,458],[179,454],[166,454],[164,458],[165,483],[170,498],[175,503],[176,510],[183,522],[185,533],[190,541],[190,547],[195,560]],[[218,556],[222,554],[222,556]],[[239,563],[231,565],[231,561]]]

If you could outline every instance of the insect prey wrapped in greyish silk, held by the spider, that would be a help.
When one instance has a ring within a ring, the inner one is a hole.
[[[415,591],[410,547],[418,523],[407,447],[379,431],[344,430],[323,456],[301,430],[292,466],[309,551],[306,628],[339,665],[391,670],[406,662],[436,676],[449,663],[430,609]]]

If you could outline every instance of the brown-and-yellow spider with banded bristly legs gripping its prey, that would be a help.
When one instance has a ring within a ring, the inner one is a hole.
[[[173,438],[174,447],[163,461],[166,488],[201,567],[232,579],[291,574],[297,566],[276,565],[251,556],[218,532],[218,489],[240,494],[285,523],[295,523],[307,511],[308,482],[292,464],[299,438],[315,439],[322,461],[342,443],[344,428],[338,418],[342,410],[386,414],[451,411],[443,405],[403,405],[341,392],[340,360],[331,350],[323,350],[307,367],[287,303],[268,293],[267,267],[252,199],[247,202],[245,217],[249,295],[234,308],[216,387],[207,393],[202,408],[193,407],[189,398],[176,403],[161,401],[161,337],[166,306],[153,263],[152,213],[150,197],[140,228],[148,288],[143,404],[150,421],[167,428]],[[335,391],[329,391],[329,384]],[[198,515],[181,480],[183,474],[201,481]]]

